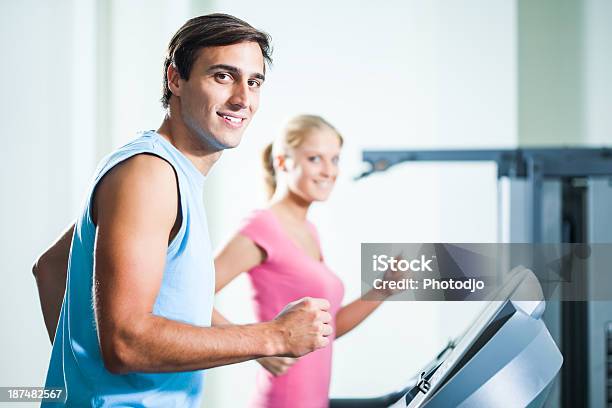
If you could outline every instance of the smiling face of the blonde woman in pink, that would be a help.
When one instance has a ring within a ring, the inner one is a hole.
[[[338,177],[340,148],[338,135],[327,127],[308,133],[286,157],[289,190],[308,202],[327,200]]]

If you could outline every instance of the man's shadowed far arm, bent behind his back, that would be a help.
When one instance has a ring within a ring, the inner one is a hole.
[[[53,344],[55,339],[57,322],[66,290],[68,256],[70,254],[73,233],[74,224],[39,256],[36,262],[34,262],[34,266],[32,266],[32,273],[36,278],[36,285],[38,286],[40,307],[51,344]]]

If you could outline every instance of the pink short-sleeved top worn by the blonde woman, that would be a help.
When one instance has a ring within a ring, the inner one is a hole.
[[[319,243],[314,225],[308,225]],[[323,259],[314,260],[292,241],[271,210],[254,211],[240,233],[267,254],[262,264],[249,271],[256,313],[261,321],[273,319],[287,303],[306,296],[329,300],[335,320],[344,295],[342,282]],[[327,408],[333,336],[331,340],[328,347],[301,357],[279,377],[262,367],[252,407]]]

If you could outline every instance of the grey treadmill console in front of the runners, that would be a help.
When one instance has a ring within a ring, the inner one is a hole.
[[[476,321],[399,391],[330,408],[542,407],[563,357],[542,321],[537,278],[517,267]],[[530,300],[524,300],[530,299]],[[539,300],[531,300],[539,299]]]

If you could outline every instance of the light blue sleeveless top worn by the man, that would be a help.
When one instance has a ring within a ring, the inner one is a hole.
[[[46,381],[47,387],[66,389],[66,406],[200,405],[203,371],[116,375],[104,368],[100,354],[92,299],[96,227],[91,218],[91,198],[96,185],[110,169],[140,153],[159,156],[174,167],[182,212],[181,228],[168,246],[153,313],[197,326],[210,326],[215,272],[203,205],[204,176],[166,139],[154,131],[147,131],[101,162],[89,188],[85,208],[76,222],[66,294]]]

